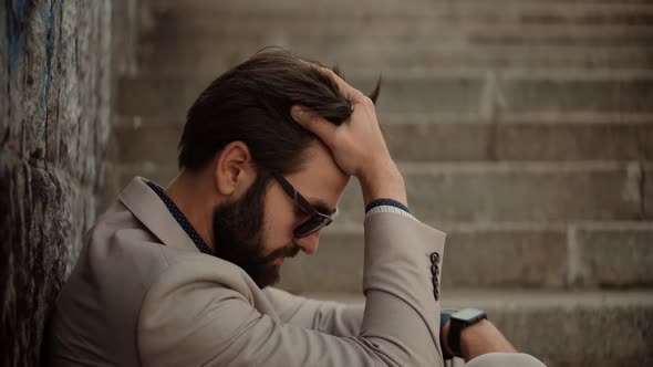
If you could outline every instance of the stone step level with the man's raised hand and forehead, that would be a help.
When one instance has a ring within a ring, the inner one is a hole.
[[[569,122],[431,120],[421,115],[385,115],[388,148],[403,161],[653,160],[653,115],[642,119]],[[170,165],[183,120],[120,117],[113,139],[121,162]]]

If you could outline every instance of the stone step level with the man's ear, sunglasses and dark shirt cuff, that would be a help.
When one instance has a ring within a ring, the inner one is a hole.
[[[425,222],[629,221],[653,218],[652,164],[605,162],[398,162],[411,211]],[[116,189],[134,176],[167,184],[176,162],[118,164]],[[352,179],[339,221],[363,222],[363,201]]]

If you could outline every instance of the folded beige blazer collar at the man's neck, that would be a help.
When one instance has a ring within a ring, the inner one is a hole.
[[[199,252],[168,208],[144,180],[142,177],[134,177],[118,199],[164,244]]]

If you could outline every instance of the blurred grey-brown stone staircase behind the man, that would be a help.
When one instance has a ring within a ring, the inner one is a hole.
[[[549,366],[653,364],[653,3],[157,0],[120,81],[113,181],[176,172],[184,114],[276,44],[370,91],[422,221],[448,233],[447,306]],[[362,302],[357,184],[281,286]]]

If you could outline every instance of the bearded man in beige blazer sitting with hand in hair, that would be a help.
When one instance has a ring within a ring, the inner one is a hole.
[[[445,234],[408,212],[372,99],[332,71],[274,51],[225,73],[188,112],[179,167],[165,189],[134,178],[89,232],[51,365],[541,366],[480,313],[440,331]],[[317,251],[351,176],[365,307],[269,287],[283,258]]]

